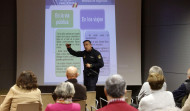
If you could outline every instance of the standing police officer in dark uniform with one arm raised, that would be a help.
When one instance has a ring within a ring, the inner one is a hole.
[[[92,47],[89,40],[85,40],[83,45],[85,48],[84,51],[74,51],[71,48],[71,44],[66,44],[66,47],[71,55],[83,57],[84,85],[86,86],[87,91],[95,91],[100,68],[104,66],[104,62],[100,52]]]

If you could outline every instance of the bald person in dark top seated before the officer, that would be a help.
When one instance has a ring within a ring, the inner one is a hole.
[[[73,101],[86,100],[86,87],[77,82],[78,75],[79,73],[76,67],[70,66],[67,68],[66,76],[68,80],[66,82],[71,82],[75,88],[75,94],[72,98]],[[56,101],[57,97],[55,93],[53,93],[52,97]]]

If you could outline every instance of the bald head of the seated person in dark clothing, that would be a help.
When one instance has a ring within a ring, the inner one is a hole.
[[[76,79],[78,77],[79,73],[76,67],[70,66],[67,68],[66,76],[68,79]]]

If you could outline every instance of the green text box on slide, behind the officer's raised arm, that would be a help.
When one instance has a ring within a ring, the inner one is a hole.
[[[57,77],[65,77],[67,67],[75,66],[78,72],[81,69],[81,58],[69,54],[66,43],[76,50],[81,50],[81,39],[79,29],[57,29],[56,30],[56,52],[55,52],[55,74]]]

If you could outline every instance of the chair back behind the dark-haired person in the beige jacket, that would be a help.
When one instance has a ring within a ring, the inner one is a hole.
[[[39,110],[40,110],[39,103],[18,104],[16,109],[16,111],[39,111]]]

